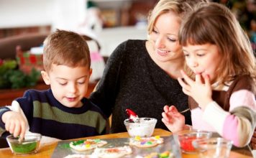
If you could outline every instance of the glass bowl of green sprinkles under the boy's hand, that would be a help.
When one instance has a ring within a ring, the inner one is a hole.
[[[19,140],[19,137],[9,135],[6,140],[9,144],[12,153],[14,154],[34,154],[38,152],[41,134],[29,133],[25,134],[23,140]]]

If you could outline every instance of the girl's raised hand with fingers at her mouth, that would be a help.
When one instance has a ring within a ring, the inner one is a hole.
[[[191,96],[198,103],[198,106],[204,110],[207,104],[213,101],[211,98],[212,90],[209,76],[196,74],[196,80],[194,81],[183,70],[181,70],[181,75],[183,75],[185,82],[181,78],[178,78],[178,83],[182,86],[183,92]],[[204,83],[202,78],[204,79]]]

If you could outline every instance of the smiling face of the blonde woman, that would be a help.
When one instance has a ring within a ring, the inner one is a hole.
[[[152,56],[160,62],[178,59],[183,56],[178,42],[180,19],[172,12],[161,14],[150,33],[150,41],[155,46]]]

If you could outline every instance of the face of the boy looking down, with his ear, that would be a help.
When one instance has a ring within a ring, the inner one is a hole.
[[[87,66],[70,68],[52,64],[48,73],[42,71],[42,78],[63,106],[79,108],[82,106],[81,99],[86,96],[91,71]]]

